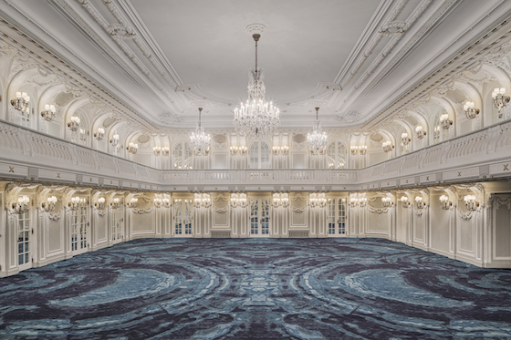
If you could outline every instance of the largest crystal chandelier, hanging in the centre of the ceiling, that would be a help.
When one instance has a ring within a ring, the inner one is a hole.
[[[264,26],[257,27],[260,28],[259,32],[264,31]],[[236,132],[260,139],[280,125],[280,112],[273,102],[265,99],[265,75],[257,67],[257,41],[261,35],[256,33],[252,37],[255,40],[255,69],[250,68],[248,71],[248,99],[245,104],[241,103],[239,108],[235,108],[234,122]]]

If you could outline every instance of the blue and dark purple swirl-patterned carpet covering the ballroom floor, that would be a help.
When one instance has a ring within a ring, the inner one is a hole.
[[[511,271],[378,239],[146,239],[0,279],[0,338],[511,338]]]

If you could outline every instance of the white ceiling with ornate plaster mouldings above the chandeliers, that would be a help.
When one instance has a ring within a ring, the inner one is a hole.
[[[0,31],[99,100],[165,130],[192,128],[198,107],[206,127],[232,127],[255,63],[245,27],[263,24],[259,66],[283,128],[309,127],[319,106],[328,127],[370,129],[455,66],[509,3],[1,0]]]

